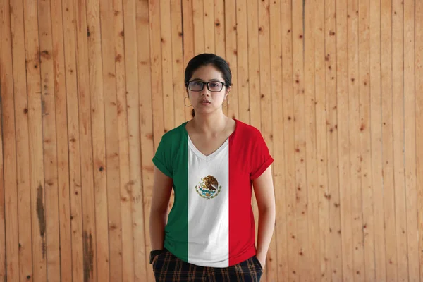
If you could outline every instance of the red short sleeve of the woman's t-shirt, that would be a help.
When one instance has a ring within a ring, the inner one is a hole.
[[[252,146],[251,157],[251,172],[250,179],[255,180],[266,171],[266,169],[273,163],[274,159],[269,153],[269,148],[264,141],[261,133],[257,132],[255,137],[255,144]]]

